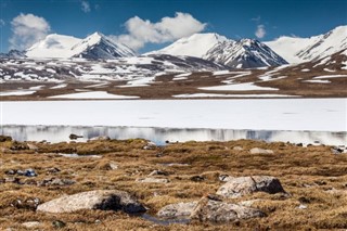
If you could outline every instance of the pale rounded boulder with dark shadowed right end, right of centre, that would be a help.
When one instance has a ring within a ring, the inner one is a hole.
[[[253,176],[233,178],[217,191],[218,195],[227,197],[240,197],[254,192],[267,192],[270,194],[285,192],[281,182],[269,176]]]

